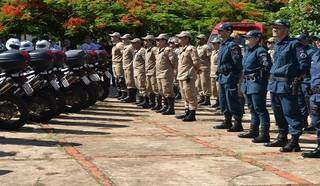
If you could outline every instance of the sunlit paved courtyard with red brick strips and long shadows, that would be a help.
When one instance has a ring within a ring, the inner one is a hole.
[[[223,118],[209,108],[197,117],[183,123],[109,98],[48,124],[1,132],[0,185],[320,185],[318,159],[213,130]],[[304,134],[302,150],[314,148],[315,138]]]

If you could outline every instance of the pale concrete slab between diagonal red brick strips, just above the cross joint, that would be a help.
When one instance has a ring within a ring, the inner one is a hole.
[[[77,147],[77,149],[89,157],[136,157],[185,154],[219,155],[219,152],[204,148],[182,137],[87,137],[72,138],[70,140],[83,144]]]

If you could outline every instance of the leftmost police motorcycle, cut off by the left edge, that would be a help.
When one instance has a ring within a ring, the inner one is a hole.
[[[11,39],[11,43],[19,43]],[[28,63],[28,54],[18,51],[19,45],[9,44],[9,49],[0,54],[0,129],[18,130],[29,118],[23,97],[31,95],[33,89],[23,73]],[[12,48],[11,48],[12,47]]]

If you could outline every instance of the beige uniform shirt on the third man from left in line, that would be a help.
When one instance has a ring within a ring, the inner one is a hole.
[[[145,74],[145,57],[146,50],[143,47],[135,52],[133,57],[134,76],[138,76],[139,74]]]

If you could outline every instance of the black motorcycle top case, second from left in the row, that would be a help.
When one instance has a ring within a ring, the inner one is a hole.
[[[35,50],[30,52],[30,66],[38,72],[53,68],[53,54],[50,50]]]

